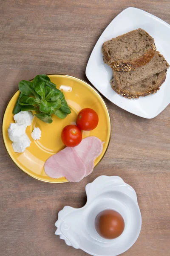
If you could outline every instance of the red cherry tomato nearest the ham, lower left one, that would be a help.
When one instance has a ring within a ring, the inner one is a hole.
[[[77,125],[67,125],[62,129],[61,139],[67,147],[75,147],[82,141],[82,131]]]

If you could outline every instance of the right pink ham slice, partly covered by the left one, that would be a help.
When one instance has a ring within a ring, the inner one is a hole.
[[[102,153],[103,144],[99,138],[90,136],[83,139],[79,145],[74,147],[74,150],[86,166],[86,177],[93,172],[94,160]]]

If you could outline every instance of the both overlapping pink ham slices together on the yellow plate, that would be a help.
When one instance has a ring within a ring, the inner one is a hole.
[[[91,174],[94,160],[102,153],[102,141],[90,136],[74,148],[66,147],[49,157],[44,165],[46,175],[51,178],[66,177],[78,182]]]

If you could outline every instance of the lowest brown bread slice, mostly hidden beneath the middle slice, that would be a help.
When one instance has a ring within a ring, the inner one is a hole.
[[[147,96],[151,93],[156,93],[159,90],[159,87],[166,79],[166,73],[167,70],[161,71],[160,73],[149,76],[137,83],[129,86],[127,85],[121,90],[119,90],[116,79],[113,78],[111,80],[111,87],[116,91],[116,93],[119,93],[129,99],[139,98],[139,96]]]

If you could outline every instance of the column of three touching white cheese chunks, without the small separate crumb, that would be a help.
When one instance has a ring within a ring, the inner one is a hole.
[[[13,142],[12,147],[15,152],[23,153],[30,146],[31,141],[26,135],[26,128],[31,125],[33,118],[30,111],[20,111],[14,115],[15,123],[9,125],[8,136]]]

